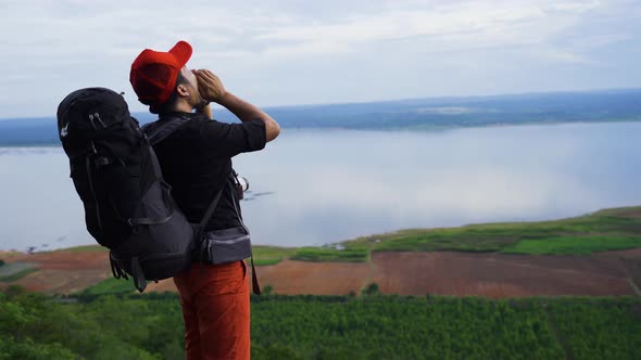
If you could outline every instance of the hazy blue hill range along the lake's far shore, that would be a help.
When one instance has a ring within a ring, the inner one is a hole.
[[[266,107],[284,128],[430,129],[641,120],[641,89]],[[135,113],[141,124],[154,119]],[[237,121],[215,111],[222,121]],[[0,145],[58,143],[54,116],[0,120]]]

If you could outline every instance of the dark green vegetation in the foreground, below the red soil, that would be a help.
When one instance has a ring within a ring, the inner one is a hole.
[[[253,359],[638,359],[641,299],[252,297]],[[0,359],[183,359],[175,294],[0,293]]]

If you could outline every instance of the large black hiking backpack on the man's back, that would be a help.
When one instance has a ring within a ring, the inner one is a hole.
[[[111,250],[114,277],[130,274],[143,292],[146,280],[187,269],[198,227],[176,206],[124,98],[104,88],[74,91],[58,107],[58,130],[87,230]]]

